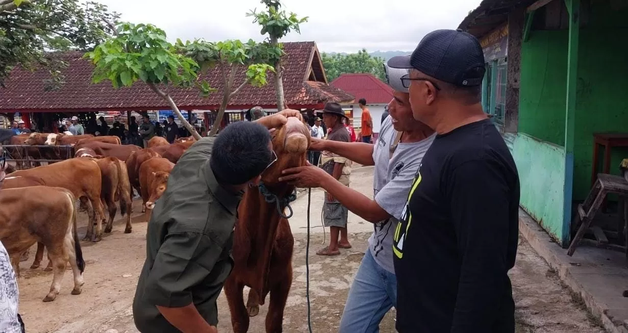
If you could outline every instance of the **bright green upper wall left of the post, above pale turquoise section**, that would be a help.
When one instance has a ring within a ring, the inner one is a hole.
[[[519,132],[565,145],[567,31],[532,31],[521,45]]]

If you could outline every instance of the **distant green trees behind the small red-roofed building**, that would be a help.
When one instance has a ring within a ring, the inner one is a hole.
[[[385,80],[384,58],[372,57],[365,48],[357,53],[347,55],[323,53],[321,58],[323,67],[325,67],[325,74],[330,81],[335,80],[340,74],[347,73],[371,73],[378,79]]]

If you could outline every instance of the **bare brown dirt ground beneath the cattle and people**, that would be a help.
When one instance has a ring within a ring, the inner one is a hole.
[[[352,187],[367,193],[372,183],[372,173],[364,170],[365,177],[355,177]],[[312,192],[312,202],[321,196]],[[308,332],[305,278],[306,234],[301,224],[307,195],[300,195],[295,202],[295,217],[291,225],[295,233],[293,257],[294,278],[290,297],[284,312],[284,332]],[[139,212],[139,203],[135,202]],[[320,212],[320,207],[313,209]],[[300,214],[297,214],[300,213]],[[83,213],[81,213],[84,216]],[[133,232],[124,234],[124,223],[117,221],[114,231],[106,234],[99,243],[82,242],[86,268],[85,286],[81,295],[70,295],[72,275],[63,278],[57,300],[43,303],[52,279],[51,272],[41,268],[30,270],[34,257],[21,263],[19,279],[20,308],[26,324],[26,332],[43,333],[135,333],[131,303],[138,273],[146,256],[146,219],[134,214]],[[85,216],[84,216],[85,217]],[[359,219],[359,218],[358,218]],[[79,237],[85,232],[85,221],[79,222]],[[314,221],[318,221],[314,219]],[[316,222],[314,222],[316,224]],[[355,227],[352,226],[354,224]],[[358,227],[360,226],[360,227]],[[321,257],[314,254],[322,247],[323,234],[318,229],[310,241],[310,297],[313,332],[338,332],[338,323],[347,298],[350,283],[367,247],[369,226],[355,217],[350,219],[352,249],[343,250],[337,257]],[[429,268],[426,268],[429,269]],[[511,270],[513,293],[516,301],[517,333],[602,333],[604,332],[577,297],[561,286],[556,273],[523,240],[519,241],[517,263]],[[247,291],[245,290],[245,293]],[[268,302],[268,300],[267,300]],[[224,295],[219,298],[219,332],[231,332],[229,309]],[[266,305],[251,320],[249,332],[264,332]],[[394,332],[394,309],[381,324],[381,332]]]

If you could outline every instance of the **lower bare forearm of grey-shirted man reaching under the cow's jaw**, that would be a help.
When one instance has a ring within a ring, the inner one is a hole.
[[[386,210],[379,207],[375,200],[369,199],[353,188],[342,185],[342,183],[335,180],[332,176],[325,176],[321,187],[338,200],[340,204],[366,221],[376,223],[391,217]]]

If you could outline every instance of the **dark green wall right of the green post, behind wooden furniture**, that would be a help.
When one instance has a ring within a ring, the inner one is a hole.
[[[608,4],[593,3],[590,23],[580,31],[574,200],[584,200],[590,190],[593,133],[628,132],[628,43],[617,41],[628,34],[628,8],[604,6]],[[602,157],[600,151],[600,162]],[[619,174],[623,158],[628,158],[628,149],[613,148],[610,173]],[[602,163],[598,170],[602,172]]]

